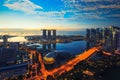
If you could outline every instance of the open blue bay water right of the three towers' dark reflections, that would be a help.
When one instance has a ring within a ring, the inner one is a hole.
[[[80,54],[86,49],[86,41],[73,41],[70,43],[57,43],[56,50],[64,50],[70,52],[72,55]]]

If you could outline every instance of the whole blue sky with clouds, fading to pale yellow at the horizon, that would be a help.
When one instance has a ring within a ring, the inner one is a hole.
[[[80,30],[120,26],[119,0],[0,0],[0,28]]]

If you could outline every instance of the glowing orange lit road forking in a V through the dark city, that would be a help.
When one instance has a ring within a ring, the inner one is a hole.
[[[46,70],[41,54],[39,52],[32,50],[32,51],[30,51],[31,54],[36,54],[36,53],[39,54],[38,59],[41,64],[41,69],[40,69],[41,75],[31,76],[29,79],[25,78],[24,80],[47,80],[48,76],[52,76],[53,78],[60,76],[61,74],[72,70],[75,65],[77,65],[79,62],[89,58],[91,55],[93,55],[95,52],[99,51],[101,48],[102,48],[101,46],[93,47],[93,48],[83,52],[82,54],[77,55],[75,58],[66,62],[64,65],[61,65],[60,67],[57,67],[53,70]],[[37,67],[37,64],[32,65],[32,66]],[[36,73],[37,73],[37,71],[36,71]]]

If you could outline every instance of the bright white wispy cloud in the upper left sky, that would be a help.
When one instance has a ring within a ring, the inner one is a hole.
[[[36,10],[41,10],[42,7],[32,3],[29,0],[7,0],[4,6],[12,10],[23,11],[28,14],[36,14]]]

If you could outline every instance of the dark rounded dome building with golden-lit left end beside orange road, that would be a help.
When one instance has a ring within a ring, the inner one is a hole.
[[[69,59],[71,59],[72,56],[69,52],[65,52],[65,51],[53,51],[53,52],[49,52],[47,53],[44,58],[43,61],[45,64],[62,64],[65,63],[66,61],[68,61]]]

